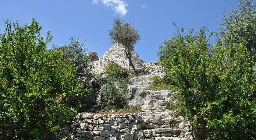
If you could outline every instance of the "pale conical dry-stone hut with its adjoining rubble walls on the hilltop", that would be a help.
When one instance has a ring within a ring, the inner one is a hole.
[[[129,69],[130,72],[133,73],[132,68],[129,66],[129,60],[126,58],[122,44],[114,44],[109,48],[108,51],[104,53],[102,58],[98,58],[96,52],[90,52],[88,56],[88,60],[92,65],[94,74],[102,74],[106,72],[106,66],[108,63],[118,64],[121,68]],[[144,61],[134,50],[131,51],[131,58],[135,69],[140,75],[155,75],[164,73],[163,68],[159,65],[155,65],[155,62],[144,63]]]

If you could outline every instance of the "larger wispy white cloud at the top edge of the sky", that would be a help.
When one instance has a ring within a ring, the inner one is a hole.
[[[93,4],[97,4],[99,0],[93,0]],[[128,6],[127,2],[124,0],[101,0],[101,2],[110,7],[116,14],[120,16],[125,16],[129,11],[126,9]]]

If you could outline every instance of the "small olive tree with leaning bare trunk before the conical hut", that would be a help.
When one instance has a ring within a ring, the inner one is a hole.
[[[126,58],[129,60],[130,66],[132,66],[134,72],[137,74],[132,62],[131,50],[133,50],[134,44],[140,40],[139,32],[133,28],[130,23],[124,23],[123,20],[115,18],[114,27],[112,30],[109,30],[109,36],[112,38],[113,44],[123,44]]]

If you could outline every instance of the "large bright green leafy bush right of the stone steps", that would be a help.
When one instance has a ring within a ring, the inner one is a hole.
[[[190,118],[194,134],[197,139],[255,139],[255,58],[242,40],[235,45],[219,40],[209,57],[204,28],[198,35],[192,31],[178,30],[174,47],[160,47],[164,53],[159,59],[179,89],[181,111]]]

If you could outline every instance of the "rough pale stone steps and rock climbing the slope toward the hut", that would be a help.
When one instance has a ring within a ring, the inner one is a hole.
[[[161,75],[160,75],[161,77]],[[133,97],[131,106],[140,106],[144,139],[192,140],[191,126],[187,119],[172,116],[169,100],[176,91],[150,89],[152,75],[131,78],[128,93]]]

